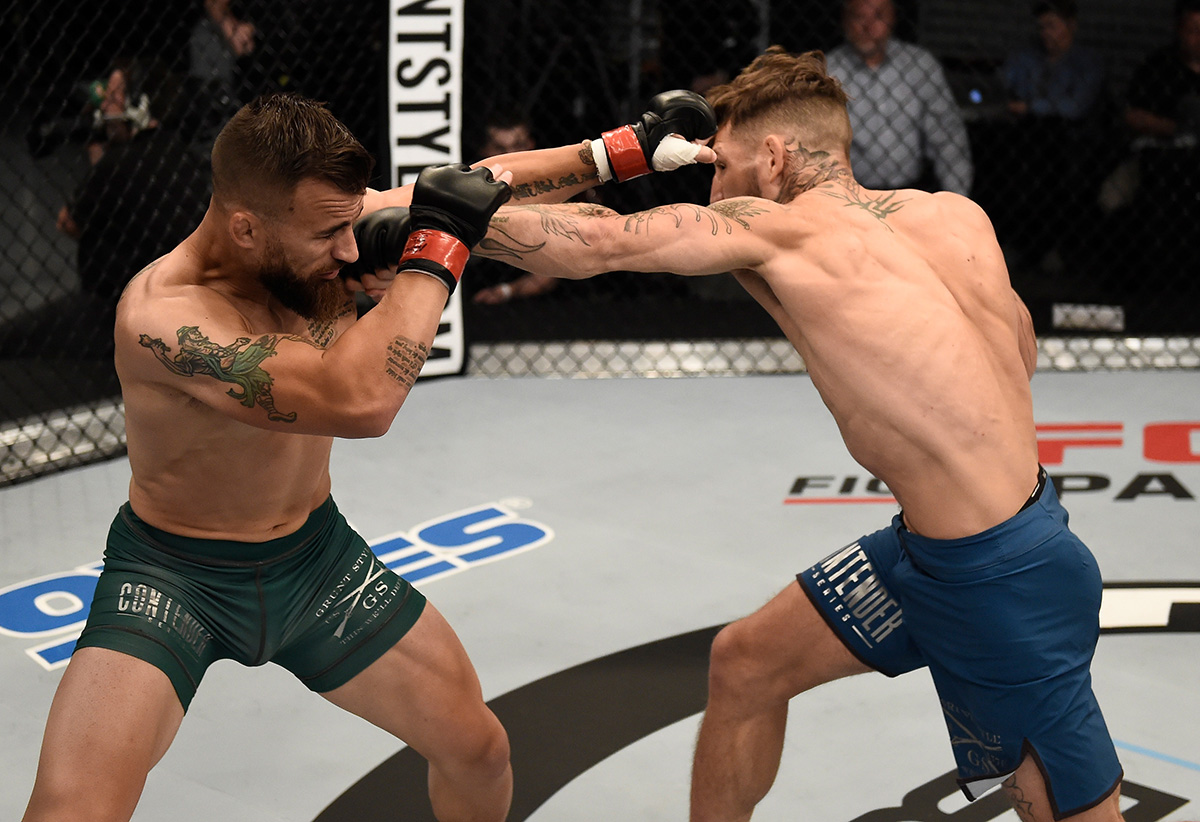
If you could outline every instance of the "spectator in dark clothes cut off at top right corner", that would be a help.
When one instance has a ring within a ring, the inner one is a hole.
[[[1176,2],[1175,42],[1134,72],[1126,124],[1147,137],[1200,133],[1200,0]]]

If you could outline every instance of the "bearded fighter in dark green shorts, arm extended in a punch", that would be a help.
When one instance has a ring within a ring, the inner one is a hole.
[[[713,122],[698,97],[671,101],[620,134],[659,168],[671,131]],[[701,151],[673,142],[682,162]],[[499,204],[596,185],[595,151],[509,155],[511,190],[443,167],[377,192],[370,155],[320,104],[271,95],[226,125],[203,222],[118,307],[130,502],[50,707],[26,821],[128,820],[221,658],[283,665],[407,742],[428,760],[439,818],[506,815],[508,738],[470,660],[337,514],[329,455],[334,437],[391,426]],[[338,276],[352,264],[355,280]],[[361,319],[352,283],[380,298]]]

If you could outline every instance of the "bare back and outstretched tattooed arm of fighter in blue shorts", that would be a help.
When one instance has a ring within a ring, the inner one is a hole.
[[[536,248],[521,265],[538,274],[734,271],[917,533],[978,533],[1033,490],[1032,325],[988,217],[964,197],[847,179],[787,204],[737,197],[628,217],[515,206],[492,224],[510,252]]]

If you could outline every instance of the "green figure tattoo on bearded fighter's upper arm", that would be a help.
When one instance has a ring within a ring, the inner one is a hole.
[[[149,348],[168,371],[180,377],[214,377],[223,383],[233,383],[227,394],[246,408],[260,406],[266,419],[274,422],[295,422],[295,412],[282,413],[275,407],[271,385],[275,380],[262,367],[263,360],[275,356],[280,340],[294,337],[264,334],[254,342],[250,337],[238,337],[229,346],[218,346],[196,325],[185,325],[176,332],[179,353],[170,358],[170,346],[162,340],[143,334],[138,342]],[[302,338],[302,337],[301,337]],[[311,341],[306,341],[310,342]]]

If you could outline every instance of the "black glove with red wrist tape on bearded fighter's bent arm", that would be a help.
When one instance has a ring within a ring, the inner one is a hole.
[[[431,166],[416,178],[409,205],[413,233],[400,258],[401,271],[420,271],[454,293],[472,247],[512,190],[487,168],[462,163]]]

